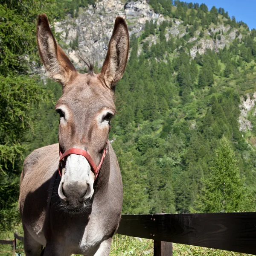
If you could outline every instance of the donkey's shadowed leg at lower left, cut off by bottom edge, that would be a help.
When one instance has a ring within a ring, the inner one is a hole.
[[[29,234],[29,231],[23,225],[24,230],[24,251],[26,256],[40,256],[42,245],[39,244],[35,239]]]

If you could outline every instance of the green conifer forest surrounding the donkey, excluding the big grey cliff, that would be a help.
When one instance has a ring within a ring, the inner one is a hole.
[[[109,135],[122,173],[122,213],[255,211],[256,30],[223,8],[147,3],[165,19],[130,33]],[[53,24],[95,4],[0,0],[0,232],[20,224],[25,157],[58,143],[54,106],[61,85],[38,72],[37,15],[46,13]],[[182,33],[168,34],[177,24]],[[54,33],[64,51],[78,47],[76,40],[65,47]],[[202,39],[216,47],[198,43]]]

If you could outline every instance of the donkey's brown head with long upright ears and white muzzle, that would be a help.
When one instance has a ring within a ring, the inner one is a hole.
[[[108,53],[99,74],[80,74],[52,35],[46,15],[38,16],[37,43],[49,77],[62,84],[62,96],[55,109],[60,114],[59,143],[62,152],[70,148],[87,151],[98,166],[115,114],[113,90],[125,71],[129,37],[121,17],[117,17]],[[90,162],[90,161],[89,161]],[[95,173],[87,158],[78,154],[66,157],[61,170],[58,195],[65,207],[79,212],[93,195]]]

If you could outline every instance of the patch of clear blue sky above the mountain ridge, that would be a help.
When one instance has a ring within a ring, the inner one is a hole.
[[[250,29],[256,29],[256,0],[186,0],[186,2],[205,3],[209,10],[212,6],[224,8],[229,16],[235,16],[237,21],[242,20]]]

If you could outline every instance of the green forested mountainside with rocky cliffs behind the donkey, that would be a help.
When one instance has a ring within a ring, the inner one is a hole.
[[[117,15],[125,15],[130,30],[110,134],[122,172],[123,212],[254,211],[256,31],[204,4],[74,2],[61,15],[52,8],[50,21],[79,70],[85,67],[78,55],[93,57],[100,69]],[[26,76],[39,70],[44,77],[35,63]],[[47,103],[33,103],[32,130],[19,138],[24,154],[58,141],[53,107],[61,87],[44,79],[39,89]],[[21,162],[15,163],[17,177]],[[3,171],[11,177],[9,169]]]

